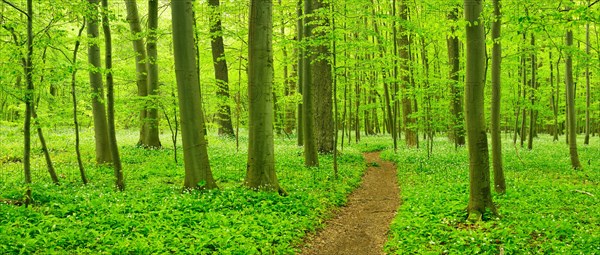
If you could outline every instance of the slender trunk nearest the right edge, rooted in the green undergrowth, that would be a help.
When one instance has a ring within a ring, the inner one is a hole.
[[[567,48],[573,47],[573,30],[567,29],[565,36]],[[567,127],[569,137],[569,152],[571,154],[571,166],[574,169],[581,168],[579,155],[577,153],[577,118],[575,113],[575,95],[573,89],[573,53],[570,50],[566,52],[565,59],[565,84],[567,88]]]

